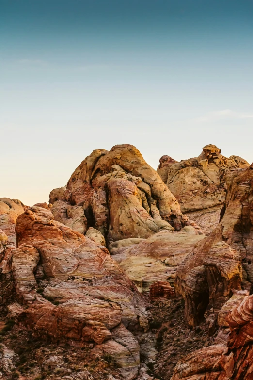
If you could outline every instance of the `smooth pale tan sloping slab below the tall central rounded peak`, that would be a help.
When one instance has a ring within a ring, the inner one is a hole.
[[[129,239],[129,248],[122,247],[117,254],[114,251],[112,257],[137,288],[141,292],[147,292],[150,285],[156,281],[169,281],[174,284],[177,265],[204,237],[185,231],[173,233],[165,230],[134,246]]]

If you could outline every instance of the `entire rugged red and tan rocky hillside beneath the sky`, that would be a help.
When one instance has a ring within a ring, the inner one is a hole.
[[[252,202],[212,145],[158,172],[97,149],[48,204],[0,198],[0,380],[252,379]]]

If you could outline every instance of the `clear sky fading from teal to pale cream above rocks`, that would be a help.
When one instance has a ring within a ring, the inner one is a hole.
[[[48,201],[94,149],[253,161],[253,0],[0,0],[0,197]]]

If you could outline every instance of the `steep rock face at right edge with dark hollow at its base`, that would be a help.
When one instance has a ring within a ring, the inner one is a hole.
[[[179,265],[177,294],[186,299],[185,315],[196,325],[205,312],[217,313],[233,290],[253,283],[253,165],[230,171],[223,217]]]

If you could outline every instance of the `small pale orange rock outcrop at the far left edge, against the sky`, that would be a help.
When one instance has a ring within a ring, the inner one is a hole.
[[[25,208],[18,199],[0,198],[0,241],[7,240],[7,236],[10,242],[16,243],[16,218]]]

